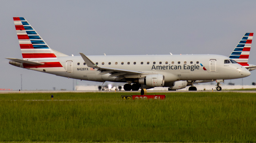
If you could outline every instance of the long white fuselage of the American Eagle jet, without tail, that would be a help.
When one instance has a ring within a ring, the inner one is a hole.
[[[114,55],[88,56],[88,58],[99,67],[161,74],[164,75],[165,82],[226,80],[243,78],[251,74],[246,68],[237,63],[225,64],[224,60],[230,58],[222,55]],[[86,63],[84,65],[81,56],[57,57],[57,60],[62,67],[28,69],[80,80],[127,82],[127,80],[115,80],[115,77],[108,77],[110,74],[98,75],[100,71],[88,67]],[[38,60],[34,59],[34,61]],[[140,78],[140,75],[125,74],[123,76],[125,79]]]

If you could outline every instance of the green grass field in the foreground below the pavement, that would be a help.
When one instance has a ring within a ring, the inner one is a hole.
[[[137,94],[0,94],[0,141],[256,142],[256,94]]]

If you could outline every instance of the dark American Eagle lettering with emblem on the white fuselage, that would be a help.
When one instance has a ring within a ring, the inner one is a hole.
[[[202,64],[200,64],[201,66],[203,66]],[[198,65],[192,65],[192,66],[189,66],[189,65],[187,65],[187,64],[183,64],[183,66],[176,66],[176,65],[174,65],[174,66],[171,66],[171,65],[169,65],[169,66],[155,66],[155,65],[153,65],[152,66],[152,68],[151,68],[151,70],[153,70],[153,69],[155,69],[155,70],[161,70],[161,69],[189,69],[189,70],[191,70],[191,71],[194,71],[195,69],[200,69],[200,66],[198,66]],[[203,66],[203,69],[204,70],[206,70],[205,68],[204,68],[204,66]]]

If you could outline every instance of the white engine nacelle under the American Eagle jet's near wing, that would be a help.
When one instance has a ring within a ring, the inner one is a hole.
[[[139,83],[147,85],[149,87],[163,87],[164,75],[160,75],[160,74],[147,75],[146,77],[139,78]]]

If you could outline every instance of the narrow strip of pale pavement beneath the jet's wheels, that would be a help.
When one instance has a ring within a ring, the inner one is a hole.
[[[123,91],[123,90],[86,90],[86,91],[79,91],[79,90],[1,90],[0,94],[6,94],[6,93],[87,93],[87,92],[102,92],[102,93],[115,93],[115,92],[123,92],[123,93],[127,93],[127,92],[136,92],[136,93],[140,93],[139,91]],[[172,92],[212,92],[212,90],[197,90],[197,91],[186,91],[186,90],[176,90],[176,91],[168,91],[168,90],[150,90],[147,91],[147,93],[172,93]],[[251,90],[221,90],[221,91],[217,91],[217,90],[213,90],[213,92],[240,92],[240,93],[256,93],[256,91],[251,91]]]

